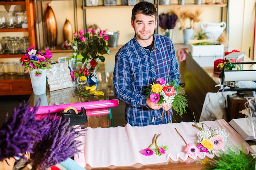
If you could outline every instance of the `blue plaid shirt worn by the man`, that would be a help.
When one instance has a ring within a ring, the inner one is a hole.
[[[146,105],[145,87],[153,80],[164,78],[180,83],[179,65],[171,39],[154,34],[151,52],[140,46],[136,38],[120,48],[115,56],[113,83],[115,96],[126,103],[125,122],[131,126],[167,123],[163,109],[153,110]],[[168,115],[172,119],[172,111]]]

